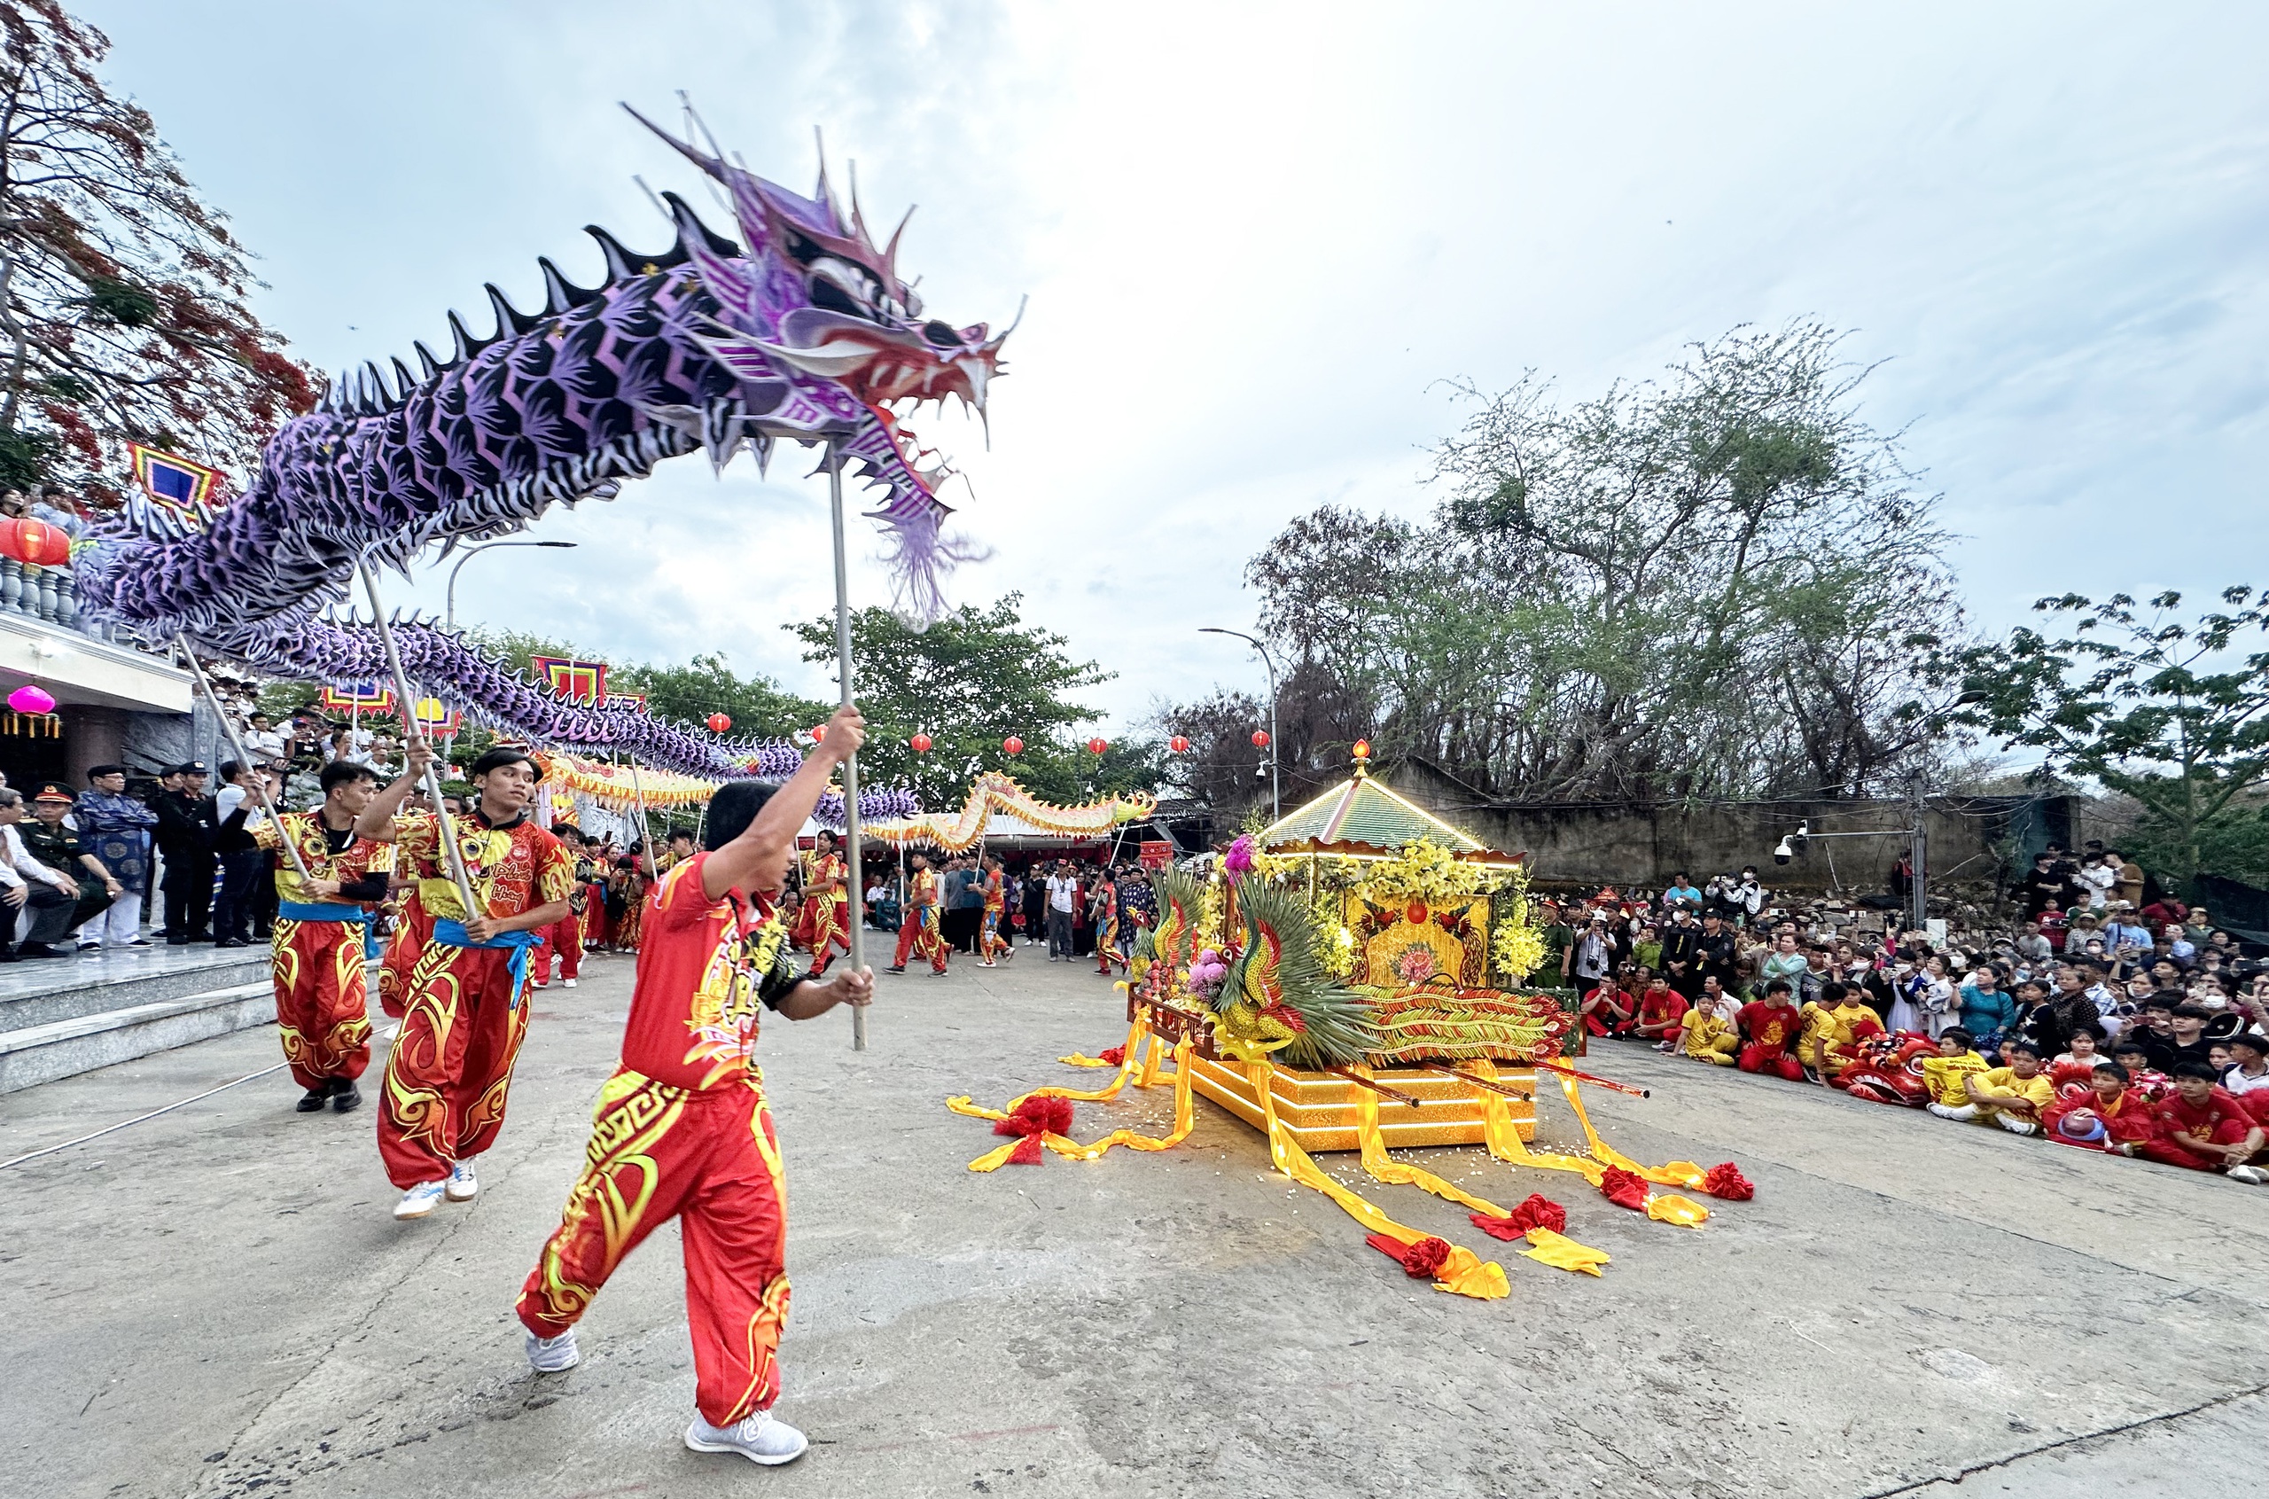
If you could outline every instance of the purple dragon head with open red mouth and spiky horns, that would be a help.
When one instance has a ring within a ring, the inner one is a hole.
[[[933,619],[944,608],[939,576],[982,553],[944,535],[953,510],[937,490],[951,469],[921,447],[905,415],[921,401],[944,406],[955,397],[982,420],[987,390],[1001,374],[1001,345],[1017,324],[994,333],[982,322],[953,327],[923,317],[921,297],[899,279],[905,220],[876,247],[855,181],[846,215],[828,186],[826,156],[819,186],[803,197],[726,161],[715,141],[701,150],[624,109],[715,179],[733,204],[747,254],[699,231],[683,202],[672,200],[672,213],[717,299],[719,313],[699,340],[740,383],[740,431],[760,444],[840,442],[844,460],[883,490],[867,515],[896,542],[889,562],[901,605]]]

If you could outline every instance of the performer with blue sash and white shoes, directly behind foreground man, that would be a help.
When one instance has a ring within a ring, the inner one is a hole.
[[[447,869],[440,821],[395,814],[433,762],[424,739],[406,748],[408,769],[370,798],[356,830]],[[417,887],[433,939],[411,968],[379,1098],[379,1157],[402,1188],[395,1218],[424,1218],[445,1195],[472,1200],[481,1191],[472,1159],[504,1127],[513,1059],[529,1032],[529,948],[567,914],[574,882],[567,850],[529,819],[540,778],[535,760],[517,748],[499,746],[472,762],[474,805],[449,828],[476,912],[465,909],[452,880]]]

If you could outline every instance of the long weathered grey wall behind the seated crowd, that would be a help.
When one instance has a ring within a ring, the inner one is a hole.
[[[1493,848],[1527,853],[1541,882],[1659,887],[1686,871],[1695,884],[1756,864],[1777,889],[1881,891],[1906,853],[1901,801],[1779,801],[1709,807],[1488,803],[1425,764],[1400,764],[1386,782]],[[2058,801],[2058,798],[2051,798]],[[1933,798],[1926,810],[1933,880],[1990,880],[1992,844],[2010,837],[2026,798]],[[1813,841],[1793,864],[1772,848],[1797,823],[1813,832],[1886,832]]]

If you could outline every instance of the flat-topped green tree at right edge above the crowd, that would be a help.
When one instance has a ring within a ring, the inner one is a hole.
[[[1963,683],[1954,719],[2010,748],[2044,753],[2058,771],[2090,776],[2142,805],[2140,848],[2174,880],[2221,873],[2212,855],[2246,857],[2269,782],[2269,608],[2253,587],[2221,590],[2194,619],[2165,592],[2078,594],[2033,608],[2069,628],[1951,658]],[[2067,624],[2069,621],[2069,624]]]

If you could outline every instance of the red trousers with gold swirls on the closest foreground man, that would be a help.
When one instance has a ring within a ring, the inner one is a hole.
[[[781,1397],[787,1184],[762,1079],[708,1091],[615,1073],[592,1109],[583,1175],[520,1288],[520,1322],[556,1338],[622,1256],[678,1220],[694,1404],[731,1426]]]

